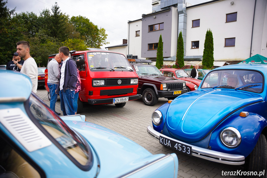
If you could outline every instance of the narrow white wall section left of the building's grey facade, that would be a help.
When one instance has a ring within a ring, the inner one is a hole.
[[[136,31],[139,31],[139,30],[140,30],[140,36],[136,37]],[[127,37],[128,37],[127,51],[129,49],[129,52],[127,54],[138,56],[138,59],[145,59],[145,58],[141,58],[142,21],[138,20],[138,21],[129,23],[127,33],[128,33],[127,34]]]

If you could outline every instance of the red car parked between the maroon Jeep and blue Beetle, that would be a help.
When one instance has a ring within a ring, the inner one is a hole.
[[[186,88],[188,92],[196,90],[201,83],[201,80],[191,78],[183,69],[162,68],[159,70],[164,76],[175,77],[186,81]]]

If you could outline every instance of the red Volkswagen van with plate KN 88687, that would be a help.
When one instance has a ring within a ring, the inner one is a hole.
[[[81,90],[77,113],[82,111],[83,102],[91,105],[115,104],[117,107],[123,107],[126,102],[141,98],[141,95],[137,94],[136,71],[123,54],[95,48],[87,49],[87,51],[70,51],[71,59],[85,59],[85,64],[78,67]],[[49,55],[48,62],[55,55]],[[45,88],[50,95],[47,86],[47,69]]]

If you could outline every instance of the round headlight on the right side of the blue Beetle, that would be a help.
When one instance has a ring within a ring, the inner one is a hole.
[[[236,128],[227,127],[222,130],[220,139],[228,148],[234,148],[240,144],[241,134]]]

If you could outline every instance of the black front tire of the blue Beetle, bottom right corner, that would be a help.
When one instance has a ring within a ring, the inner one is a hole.
[[[245,159],[246,171],[260,172],[267,168],[267,141],[266,137],[261,134],[255,148]],[[258,177],[258,176],[247,176],[247,177]]]

